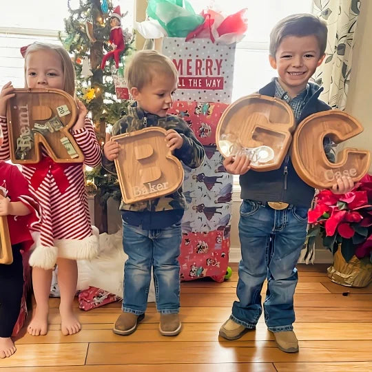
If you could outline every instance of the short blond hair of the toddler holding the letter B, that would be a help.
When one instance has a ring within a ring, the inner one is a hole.
[[[178,72],[171,59],[156,50],[140,50],[126,65],[124,74],[129,89],[136,87],[141,90],[159,73],[171,75],[174,81],[178,81]]]

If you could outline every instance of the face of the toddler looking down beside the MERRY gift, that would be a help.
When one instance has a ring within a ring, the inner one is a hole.
[[[167,111],[172,106],[176,88],[177,81],[173,75],[154,72],[151,83],[146,84],[141,90],[132,87],[130,92],[137,101],[138,107],[163,118],[167,116]]]

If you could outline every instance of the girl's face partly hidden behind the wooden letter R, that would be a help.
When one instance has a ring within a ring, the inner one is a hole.
[[[62,61],[54,50],[37,50],[27,55],[25,61],[27,87],[56,88],[63,90]]]

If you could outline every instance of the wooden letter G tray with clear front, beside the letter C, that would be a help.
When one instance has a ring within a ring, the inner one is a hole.
[[[249,154],[260,146],[270,147],[273,156],[267,161],[255,163],[251,160],[252,169],[265,172],[278,169],[282,164],[295,126],[293,111],[287,103],[251,94],[232,103],[223,112],[216,130],[216,144],[225,157]]]

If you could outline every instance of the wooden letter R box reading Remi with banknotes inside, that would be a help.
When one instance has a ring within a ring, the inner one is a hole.
[[[12,163],[39,163],[41,144],[56,163],[83,162],[70,133],[77,118],[70,94],[58,89],[15,89],[14,93],[7,107]]]

